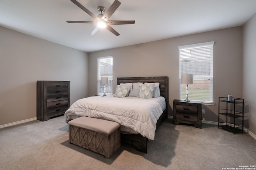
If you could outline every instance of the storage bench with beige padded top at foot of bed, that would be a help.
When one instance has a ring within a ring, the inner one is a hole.
[[[92,150],[109,158],[120,148],[120,125],[92,117],[79,117],[68,122],[69,143]]]

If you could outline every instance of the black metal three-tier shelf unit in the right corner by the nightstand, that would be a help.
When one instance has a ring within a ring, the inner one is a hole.
[[[226,103],[226,108],[220,108],[221,102]],[[239,107],[240,111],[237,109]],[[220,122],[220,115],[226,116],[226,121]],[[230,117],[230,121],[228,121],[228,117]],[[242,125],[236,124],[236,118],[240,117],[242,117]],[[232,120],[233,122],[231,122]],[[232,131],[234,134],[239,132],[244,133],[244,99],[232,98],[232,101],[228,101],[228,97],[219,97],[218,128],[220,127],[228,131]]]

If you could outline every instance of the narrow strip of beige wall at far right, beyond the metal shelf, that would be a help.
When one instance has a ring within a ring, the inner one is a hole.
[[[256,135],[256,14],[243,26],[243,98],[249,131]]]

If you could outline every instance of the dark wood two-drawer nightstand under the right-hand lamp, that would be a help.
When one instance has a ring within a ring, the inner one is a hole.
[[[173,123],[187,123],[202,128],[202,104],[197,101],[173,100]]]

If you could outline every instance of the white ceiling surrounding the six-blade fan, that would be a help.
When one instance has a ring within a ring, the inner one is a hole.
[[[114,0],[77,0],[93,14]],[[110,20],[135,20],[111,25],[90,35],[93,21],[70,0],[0,0],[0,25],[86,52],[112,49],[193,33],[243,25],[255,12],[256,0],[119,0]]]

